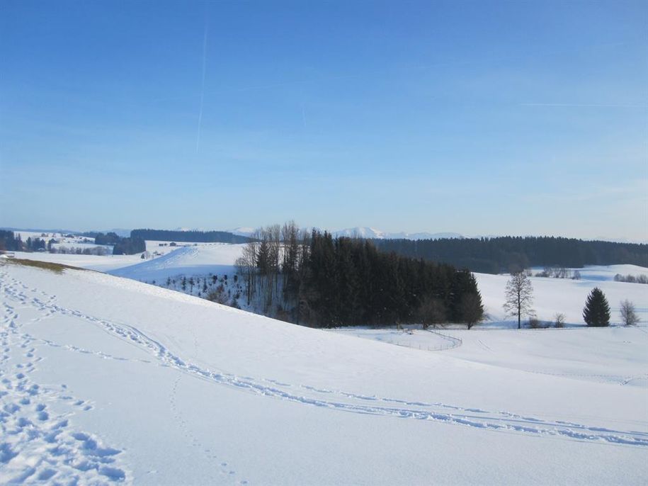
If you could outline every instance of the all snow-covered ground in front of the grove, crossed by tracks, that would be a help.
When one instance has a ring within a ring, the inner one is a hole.
[[[522,347],[538,332],[517,330],[473,332],[479,352],[419,351],[56,270],[0,265],[2,483],[630,485],[648,475],[644,328],[545,331],[548,357]],[[596,374],[596,361],[637,383],[599,383],[570,364]]]

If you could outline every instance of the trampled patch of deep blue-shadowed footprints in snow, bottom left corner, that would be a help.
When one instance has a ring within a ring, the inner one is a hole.
[[[0,273],[2,290],[11,300],[46,310],[38,320],[54,314],[48,307],[54,295],[13,279],[7,283],[6,278]],[[35,296],[29,300],[25,292]],[[0,483],[130,484],[130,474],[120,463],[123,451],[72,424],[74,414],[92,405],[72,396],[67,385],[39,385],[30,378],[42,358],[37,356],[38,340],[22,332],[20,309],[4,302],[0,320]],[[67,412],[54,412],[54,404]]]

